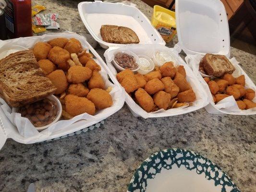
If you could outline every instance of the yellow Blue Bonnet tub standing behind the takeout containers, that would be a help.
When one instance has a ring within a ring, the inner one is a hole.
[[[175,12],[169,9],[155,5],[151,23],[166,43],[176,35]]]

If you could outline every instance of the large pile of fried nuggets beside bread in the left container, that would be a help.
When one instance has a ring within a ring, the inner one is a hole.
[[[83,50],[75,38],[55,38],[37,42],[33,53],[42,71],[57,88],[55,95],[62,104],[62,116],[71,119],[113,105],[93,55]]]

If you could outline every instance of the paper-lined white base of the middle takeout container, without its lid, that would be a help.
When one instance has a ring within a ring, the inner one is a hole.
[[[129,50],[134,52],[136,55],[146,55],[149,58],[153,57],[153,53],[157,50],[159,51],[168,51],[170,52],[175,60],[174,60],[174,65],[183,65],[186,71],[186,80],[188,83],[191,85],[193,91],[195,92],[196,95],[196,100],[193,102],[192,106],[189,107],[180,107],[180,108],[171,108],[168,110],[160,109],[155,112],[146,112],[143,108],[141,108],[139,105],[135,103],[135,101],[132,99],[131,96],[129,96],[126,92],[126,97],[125,97],[125,102],[128,105],[129,109],[131,110],[132,114],[135,117],[141,116],[143,118],[156,118],[156,117],[167,117],[167,116],[175,116],[175,115],[181,115],[185,114],[191,111],[195,111],[197,109],[205,107],[209,101],[207,98],[207,94],[204,91],[204,88],[200,84],[200,82],[197,80],[195,77],[194,73],[192,70],[187,66],[187,64],[182,60],[182,58],[178,55],[178,52],[176,51],[175,48],[167,48],[162,45],[128,45],[124,47],[111,47],[106,52],[104,53],[104,57],[106,58],[106,62],[108,67],[110,68],[110,71],[112,74],[115,76],[117,74],[116,69],[114,66],[111,64],[111,60],[113,59],[113,53],[118,50]],[[115,79],[116,80],[116,79]],[[121,86],[121,85],[120,85]]]

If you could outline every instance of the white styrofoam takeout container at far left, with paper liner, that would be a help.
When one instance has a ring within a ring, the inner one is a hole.
[[[17,39],[0,41],[0,48],[6,44],[19,45],[25,48],[33,48],[35,43],[38,41],[49,41],[50,39],[57,38],[57,37],[77,38],[81,42],[83,48],[90,49],[91,52],[96,56],[97,58],[96,62],[101,67],[100,73],[103,76],[103,79],[105,80],[106,85],[112,87],[112,91],[110,92],[110,95],[112,96],[112,99],[113,99],[113,105],[110,108],[105,108],[98,111],[94,116],[90,116],[86,113],[80,115],[80,117],[86,117],[86,119],[79,120],[78,118],[79,116],[76,116],[71,120],[60,120],[57,122],[59,124],[58,129],[51,129],[51,127],[49,127],[48,129],[42,132],[39,132],[35,135],[33,134],[29,135],[28,133],[28,136],[24,137],[18,131],[17,127],[14,126],[12,122],[5,115],[6,111],[3,111],[3,105],[2,105],[4,101],[3,99],[1,99],[0,102],[2,104],[0,103],[1,104],[0,106],[0,148],[4,145],[7,138],[12,138],[13,140],[23,144],[33,144],[37,142],[58,138],[63,135],[67,135],[69,133],[73,133],[78,130],[89,127],[93,124],[96,124],[99,121],[104,120],[110,115],[114,114],[120,108],[122,108],[124,103],[124,90],[118,85],[117,80],[114,80],[114,77],[110,72],[109,68],[106,66],[105,62],[100,58],[98,53],[90,46],[90,44],[86,41],[85,37],[83,36],[80,36],[72,32],[65,32],[65,33],[47,34],[43,36],[21,37]],[[114,84],[112,84],[108,80],[108,75],[110,76],[111,79],[113,79],[112,81]],[[10,109],[10,111],[12,110]],[[36,129],[35,129],[35,132],[37,132]]]

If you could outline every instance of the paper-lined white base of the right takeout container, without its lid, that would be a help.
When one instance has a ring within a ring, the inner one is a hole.
[[[185,57],[185,60],[186,60],[186,63],[192,68],[195,76],[200,80],[204,90],[207,92],[207,97],[208,97],[208,100],[210,101],[210,104],[205,107],[207,112],[212,113],[212,114],[225,113],[225,114],[231,114],[231,115],[255,115],[256,108],[250,108],[247,110],[239,109],[233,96],[226,97],[226,98],[222,99],[221,101],[219,101],[217,104],[214,103],[209,86],[198,71],[200,60],[203,57],[204,57],[204,55],[200,55],[200,54],[187,55]],[[234,77],[238,77],[238,76],[244,74],[245,88],[251,88],[254,91],[256,91],[255,84],[248,77],[248,75],[244,72],[244,70],[240,67],[239,62],[235,58],[232,58],[229,60],[236,69],[232,75]],[[256,102],[256,97],[253,99],[253,101]]]

